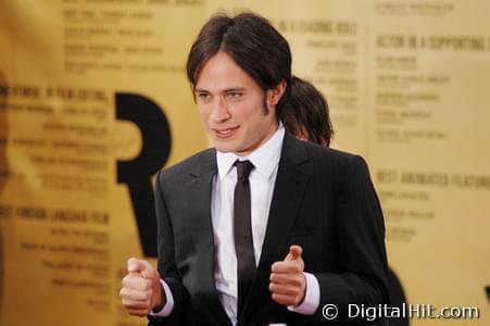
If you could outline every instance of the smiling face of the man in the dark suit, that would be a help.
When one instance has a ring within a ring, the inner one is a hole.
[[[212,57],[199,75],[194,93],[215,148],[248,155],[269,139],[277,129],[275,105],[284,84],[264,91],[227,53]]]

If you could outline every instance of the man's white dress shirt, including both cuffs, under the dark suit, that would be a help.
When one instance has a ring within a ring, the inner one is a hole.
[[[284,136],[285,128],[282,124],[279,124],[274,135],[247,158],[238,156],[235,153],[216,151],[217,174],[213,178],[211,196],[211,216],[214,252],[216,255],[214,279],[219,301],[234,325],[237,323],[238,298],[237,255],[233,228],[234,193],[237,183],[237,172],[234,163],[236,160],[249,160],[254,165],[250,173],[249,181],[251,189],[253,250],[255,263],[259,266]],[[306,278],[304,301],[298,306],[288,306],[288,309],[301,314],[313,314],[319,304],[319,285],[315,276],[310,273],[304,274]],[[171,314],[174,299],[168,286],[165,281],[161,281],[167,302],[162,311],[152,313],[152,315],[163,317]]]

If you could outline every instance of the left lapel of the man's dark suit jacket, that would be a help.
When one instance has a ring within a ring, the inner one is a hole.
[[[197,254],[200,255],[198,259],[203,262],[203,269],[200,271],[202,279],[199,279],[199,281],[212,293],[212,300],[202,302],[202,304],[209,305],[210,311],[216,312],[216,317],[222,325],[230,325],[229,318],[219,302],[214,279],[215,252],[211,220],[211,193],[213,177],[216,173],[216,152],[215,150],[210,150],[202,160],[199,160],[191,167],[189,172],[191,181],[188,184],[187,189],[189,198],[192,200],[189,203],[191,216],[197,216],[197,218],[192,218],[193,225],[191,226],[196,230],[193,233],[196,242],[200,243]]]

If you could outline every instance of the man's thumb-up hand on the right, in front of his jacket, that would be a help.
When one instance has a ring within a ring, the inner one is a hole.
[[[303,249],[293,244],[281,262],[272,265],[271,284],[268,289],[273,300],[284,305],[300,305],[306,293],[306,278],[304,277],[304,262],[301,258]]]

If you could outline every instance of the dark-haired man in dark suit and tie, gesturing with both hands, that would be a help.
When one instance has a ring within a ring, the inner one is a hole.
[[[363,321],[349,304],[387,303],[366,164],[280,123],[291,85],[284,37],[254,14],[213,16],[187,73],[215,148],[159,174],[159,266],[128,261],[127,311],[153,325],[311,325]]]

